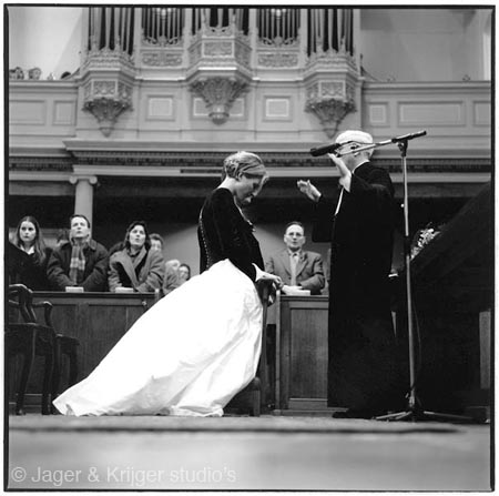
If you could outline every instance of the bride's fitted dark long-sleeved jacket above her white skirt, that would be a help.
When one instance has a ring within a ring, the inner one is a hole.
[[[225,188],[214,190],[206,198],[200,214],[197,239],[201,272],[228,259],[255,282],[256,270],[253,264],[262,270],[264,267],[258,242],[253,235],[253,225],[244,219],[232,193]]]

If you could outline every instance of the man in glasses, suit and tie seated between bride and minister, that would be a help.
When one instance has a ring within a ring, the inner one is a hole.
[[[284,232],[285,250],[272,255],[265,270],[283,280],[282,291],[308,290],[310,294],[320,294],[325,277],[323,259],[318,253],[303,250],[306,242],[305,229],[301,222],[293,221]]]

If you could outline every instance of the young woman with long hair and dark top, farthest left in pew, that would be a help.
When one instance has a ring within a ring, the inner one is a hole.
[[[19,221],[12,242],[9,242],[9,283],[24,284],[30,290],[47,291],[47,263],[52,250],[45,246],[40,224],[32,215]]]

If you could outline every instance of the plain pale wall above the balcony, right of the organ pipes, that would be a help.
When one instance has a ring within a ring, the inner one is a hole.
[[[482,13],[470,9],[361,9],[365,70],[378,81],[483,79]]]

